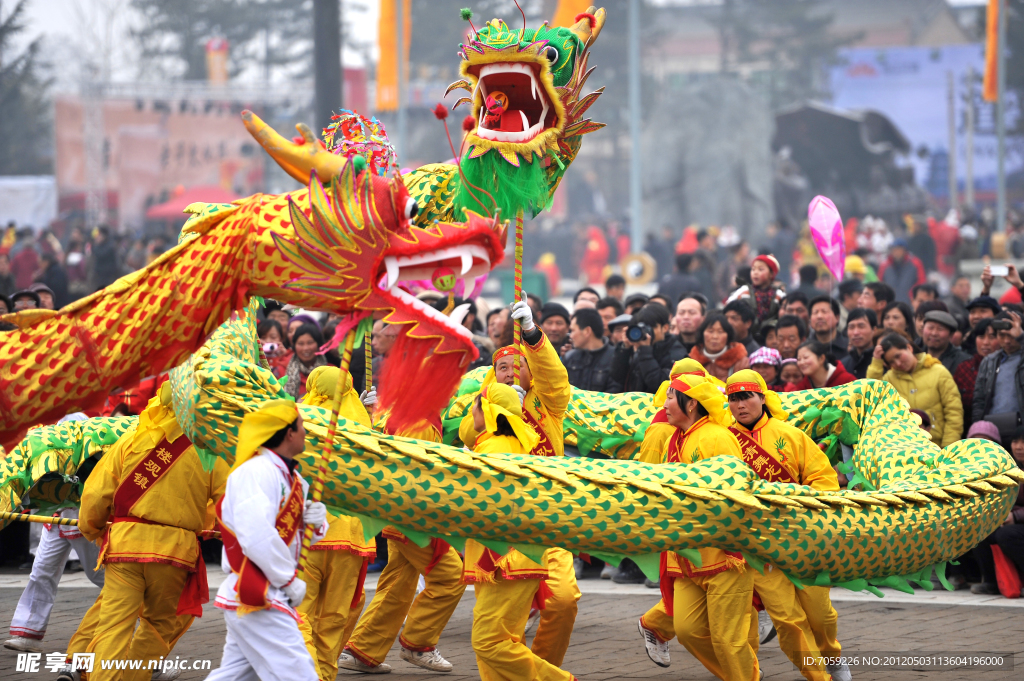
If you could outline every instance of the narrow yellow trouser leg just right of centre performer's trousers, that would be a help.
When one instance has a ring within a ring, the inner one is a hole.
[[[572,568],[572,554],[565,549],[548,549],[544,553],[548,568],[548,588],[551,596],[541,610],[541,621],[534,635],[534,654],[555,667],[561,667],[565,651],[569,649],[572,627],[575,626],[577,603],[580,587]]]

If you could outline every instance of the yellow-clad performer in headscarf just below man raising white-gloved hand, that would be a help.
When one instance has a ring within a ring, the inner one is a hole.
[[[477,436],[478,454],[529,454],[541,436],[523,420],[522,395],[504,383],[489,383],[473,399],[468,418]],[[545,557],[551,551],[548,549]],[[542,558],[543,560],[543,558]],[[528,558],[515,549],[505,555],[466,541],[463,579],[474,585],[473,652],[483,681],[567,681],[574,677],[525,645],[530,608],[542,612],[551,592],[550,563]]]

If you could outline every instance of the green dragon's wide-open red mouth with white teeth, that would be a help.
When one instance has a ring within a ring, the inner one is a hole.
[[[522,143],[555,125],[551,95],[540,78],[541,65],[505,61],[479,68],[474,105],[479,105],[476,134],[498,142]],[[502,97],[500,95],[504,94]],[[503,104],[496,113],[487,101]]]

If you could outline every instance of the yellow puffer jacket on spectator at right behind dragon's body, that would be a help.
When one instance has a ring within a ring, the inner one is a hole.
[[[932,419],[932,441],[939,446],[952,444],[961,438],[964,403],[959,389],[952,374],[932,355],[918,354],[918,366],[909,374],[895,369],[886,371],[881,359],[871,359],[867,378],[888,381],[910,403],[910,409],[928,414]]]

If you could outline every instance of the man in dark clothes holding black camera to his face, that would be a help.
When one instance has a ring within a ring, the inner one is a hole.
[[[611,360],[608,392],[655,393],[669,380],[672,365],[686,356],[669,325],[669,310],[660,303],[647,303],[633,315]]]

